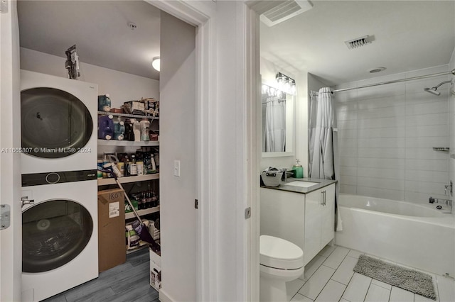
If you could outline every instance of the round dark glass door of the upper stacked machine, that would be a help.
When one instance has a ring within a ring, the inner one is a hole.
[[[22,147],[29,155],[72,155],[87,144],[92,130],[90,112],[73,94],[45,87],[21,91]]]

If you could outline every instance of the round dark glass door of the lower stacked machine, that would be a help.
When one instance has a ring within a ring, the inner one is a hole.
[[[38,203],[22,213],[22,272],[56,269],[84,250],[93,232],[86,208],[68,200]]]

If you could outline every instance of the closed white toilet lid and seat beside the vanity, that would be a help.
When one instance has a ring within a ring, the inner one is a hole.
[[[261,235],[259,263],[276,269],[299,269],[304,266],[304,251],[282,238]]]

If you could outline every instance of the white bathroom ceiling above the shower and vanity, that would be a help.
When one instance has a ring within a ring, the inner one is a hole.
[[[454,51],[454,1],[311,2],[313,9],[277,26],[261,23],[262,57],[333,85],[445,65]],[[375,41],[346,47],[364,35]],[[374,67],[387,69],[370,74]]]

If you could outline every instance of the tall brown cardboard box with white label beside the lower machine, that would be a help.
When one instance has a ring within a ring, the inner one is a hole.
[[[98,269],[122,264],[125,252],[124,191],[109,189],[98,192]]]

